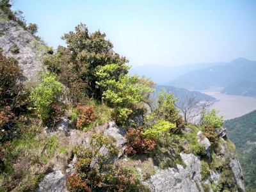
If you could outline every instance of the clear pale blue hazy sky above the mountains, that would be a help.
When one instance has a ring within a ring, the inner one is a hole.
[[[83,22],[106,33],[130,65],[256,60],[256,1],[17,0],[54,48]]]

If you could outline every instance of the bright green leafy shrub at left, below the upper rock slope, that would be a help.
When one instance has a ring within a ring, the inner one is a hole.
[[[56,106],[57,97],[63,92],[62,84],[56,81],[56,76],[46,72],[42,74],[42,82],[32,90],[30,98],[33,100],[38,117],[47,124],[50,117],[54,117],[53,122],[59,118],[59,109]],[[58,113],[55,112],[58,110]],[[61,111],[60,111],[61,112]]]

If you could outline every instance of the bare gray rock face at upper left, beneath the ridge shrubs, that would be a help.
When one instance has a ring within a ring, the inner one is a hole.
[[[22,68],[22,80],[33,82],[38,79],[38,72],[43,71],[42,61],[38,59],[45,51],[36,51],[33,43],[38,46],[45,46],[42,42],[36,41],[35,37],[12,20],[0,21],[0,47],[4,56],[10,56],[19,61]],[[13,52],[13,48],[16,52]]]

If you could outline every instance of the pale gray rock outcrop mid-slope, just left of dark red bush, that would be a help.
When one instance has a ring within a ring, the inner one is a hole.
[[[106,136],[111,136],[115,138],[116,140],[115,144],[120,149],[118,157],[122,156],[122,154],[124,153],[125,144],[126,144],[124,135],[126,131],[127,129],[116,125],[115,122],[108,122],[108,127],[107,129],[104,130],[104,134],[106,134]]]

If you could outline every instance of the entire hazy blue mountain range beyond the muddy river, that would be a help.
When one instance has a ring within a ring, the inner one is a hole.
[[[150,77],[157,84],[188,90],[222,88],[221,93],[256,97],[256,61],[238,58],[229,63],[196,63],[177,67],[144,65],[130,74]]]

